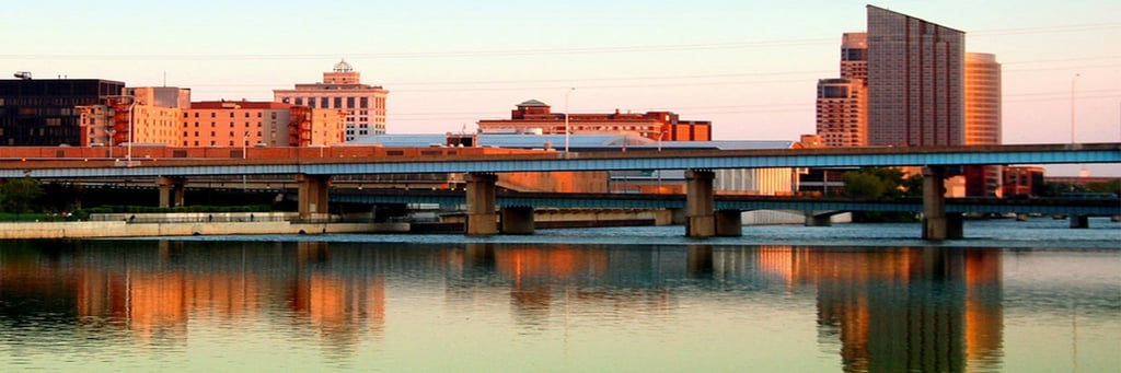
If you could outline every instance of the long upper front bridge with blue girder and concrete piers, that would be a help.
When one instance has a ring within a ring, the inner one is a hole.
[[[404,152],[402,152],[404,153]],[[245,155],[242,153],[244,157]],[[0,153],[0,159],[2,159]],[[179,190],[184,180],[202,175],[294,175],[299,185],[302,215],[326,213],[328,181],[335,175],[469,174],[467,227],[471,235],[495,234],[498,172],[685,169],[686,235],[735,235],[738,217],[717,211],[713,169],[777,167],[924,167],[923,237],[961,236],[961,214],[947,211],[943,180],[947,168],[967,165],[1118,164],[1121,143],[1071,143],[971,147],[880,147],[782,150],[666,150],[630,152],[509,152],[441,156],[389,156],[276,159],[40,157],[0,162],[0,178],[152,177],[161,201]],[[167,196],[167,197],[165,197]],[[1119,207],[1121,208],[1121,207]],[[522,215],[524,214],[517,214]],[[738,216],[738,214],[736,214]]]

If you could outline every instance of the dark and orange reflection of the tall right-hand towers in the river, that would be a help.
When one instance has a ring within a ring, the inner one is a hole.
[[[760,268],[817,291],[818,333],[845,371],[997,367],[1001,257],[993,250],[759,249]]]

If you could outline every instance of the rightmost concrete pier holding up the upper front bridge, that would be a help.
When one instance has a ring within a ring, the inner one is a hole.
[[[923,168],[923,240],[942,241],[964,236],[961,213],[946,213],[946,167]]]

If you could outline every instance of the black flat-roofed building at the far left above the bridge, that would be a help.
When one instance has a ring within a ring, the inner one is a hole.
[[[75,106],[120,95],[124,83],[104,80],[0,81],[0,146],[80,146],[82,113]]]

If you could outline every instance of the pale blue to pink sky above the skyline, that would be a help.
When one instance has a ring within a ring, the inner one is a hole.
[[[668,110],[717,140],[814,133],[818,78],[865,1],[35,1],[8,6],[0,72],[272,99],[341,59],[390,91],[389,133],[473,130],[536,99]],[[1121,141],[1121,1],[871,2],[966,32],[1003,71],[1003,142]],[[1049,175],[1121,176],[1121,165]]]

